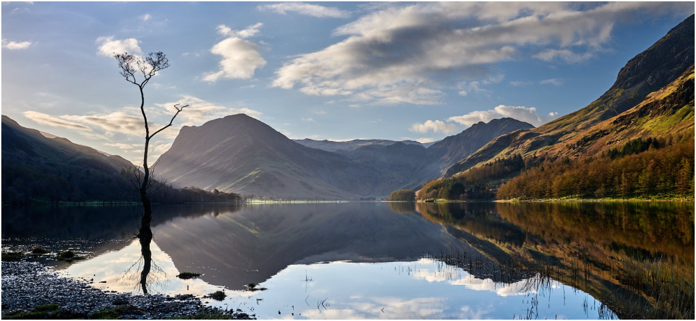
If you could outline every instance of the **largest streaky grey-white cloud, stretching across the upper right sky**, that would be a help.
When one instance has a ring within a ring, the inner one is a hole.
[[[340,26],[334,34],[345,38],[292,58],[272,85],[365,104],[439,104],[448,83],[485,78],[493,63],[528,51],[570,63],[589,59],[610,42],[618,19],[689,10],[692,3],[399,3]]]

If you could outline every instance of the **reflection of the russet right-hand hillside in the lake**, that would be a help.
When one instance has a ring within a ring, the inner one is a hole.
[[[417,204],[416,209],[496,263],[543,267],[603,302],[632,302],[619,316],[640,316],[631,314],[637,306],[657,307],[663,318],[693,316],[693,203]]]

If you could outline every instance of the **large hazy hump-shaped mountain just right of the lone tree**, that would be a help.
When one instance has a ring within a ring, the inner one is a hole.
[[[290,140],[244,114],[184,126],[157,174],[173,186],[273,197],[370,195],[377,172]]]

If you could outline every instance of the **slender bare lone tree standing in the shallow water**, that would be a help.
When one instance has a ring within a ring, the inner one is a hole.
[[[139,176],[139,190],[140,190],[140,200],[143,203],[143,218],[141,220],[139,238],[141,240],[147,240],[148,242],[152,240],[152,230],[150,229],[150,222],[152,221],[152,203],[148,197],[148,188],[151,186],[153,181],[150,175],[150,167],[148,167],[148,150],[150,148],[150,140],[155,137],[159,132],[164,131],[164,129],[172,126],[174,119],[179,115],[179,113],[186,106],[179,106],[180,104],[175,104],[174,108],[176,113],[172,116],[169,124],[158,129],[154,133],[150,134],[150,126],[148,124],[148,116],[145,115],[145,85],[150,82],[152,76],[155,76],[157,72],[162,69],[169,67],[169,60],[161,51],[157,53],[149,53],[146,57],[134,56],[127,52],[115,53],[113,58],[118,61],[118,67],[121,69],[121,76],[126,79],[129,83],[138,86],[140,90],[140,111],[143,113],[143,122],[145,124],[145,152],[143,154],[143,175]],[[142,74],[142,79],[139,74]]]

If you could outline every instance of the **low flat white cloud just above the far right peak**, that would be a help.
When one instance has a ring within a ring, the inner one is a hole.
[[[526,108],[523,106],[505,106],[499,105],[492,110],[476,110],[466,115],[454,116],[448,118],[449,122],[457,122],[464,126],[471,126],[477,122],[490,122],[498,118],[510,117],[522,122],[528,122],[534,126],[539,126],[555,120],[558,113],[549,113],[545,116],[537,114],[537,108]]]

